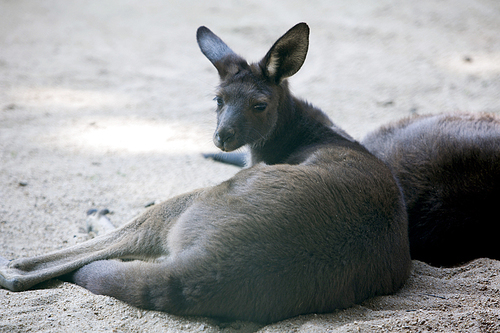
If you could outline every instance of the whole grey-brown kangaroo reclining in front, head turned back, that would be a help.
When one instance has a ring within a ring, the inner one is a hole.
[[[261,323],[398,290],[411,261],[394,177],[288,89],[308,36],[298,24],[249,65],[200,27],[221,79],[215,144],[249,145],[254,166],[87,242],[3,259],[1,285],[25,290],[76,270],[75,283],[141,308]]]

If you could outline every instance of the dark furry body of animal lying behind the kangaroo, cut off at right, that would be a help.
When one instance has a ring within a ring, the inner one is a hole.
[[[393,170],[408,207],[412,258],[455,265],[500,259],[500,118],[414,117],[368,135],[363,144]]]

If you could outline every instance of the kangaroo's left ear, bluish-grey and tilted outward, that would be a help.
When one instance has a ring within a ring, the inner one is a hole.
[[[201,52],[217,68],[221,79],[228,74],[236,74],[241,68],[247,68],[247,62],[233,52],[207,27],[199,27],[196,32],[196,39]]]

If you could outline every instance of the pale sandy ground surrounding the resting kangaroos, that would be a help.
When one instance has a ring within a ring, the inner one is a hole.
[[[414,113],[500,113],[498,0],[0,0],[0,255],[85,240],[89,208],[118,226],[231,177],[201,157],[216,151],[218,77],[196,28],[257,61],[300,21],[311,45],[292,90],[356,138]],[[414,262],[396,295],[266,327],[142,311],[53,280],[0,289],[0,332],[496,332],[499,269]]]

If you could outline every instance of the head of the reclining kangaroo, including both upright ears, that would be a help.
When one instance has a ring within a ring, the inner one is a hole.
[[[286,78],[306,58],[309,27],[299,23],[278,39],[258,63],[248,64],[206,27],[197,31],[198,45],[220,76],[215,97],[215,145],[232,151],[245,144],[259,146],[274,132],[286,111],[290,93]]]

